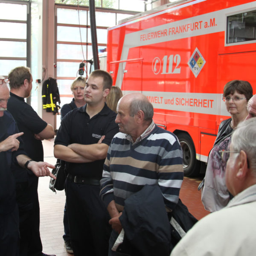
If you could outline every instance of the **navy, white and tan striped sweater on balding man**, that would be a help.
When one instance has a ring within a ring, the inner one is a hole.
[[[155,125],[138,143],[118,133],[108,148],[101,180],[100,195],[105,205],[114,200],[119,211],[124,201],[145,184],[157,184],[165,205],[173,209],[183,181],[182,151],[177,137]]]

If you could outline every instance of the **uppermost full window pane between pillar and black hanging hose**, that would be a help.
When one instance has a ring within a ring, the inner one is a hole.
[[[76,24],[87,25],[87,11],[82,11],[79,9],[79,18],[78,11],[74,9],[57,9],[57,22],[64,24]]]

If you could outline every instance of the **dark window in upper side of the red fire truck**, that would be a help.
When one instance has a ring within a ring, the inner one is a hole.
[[[227,44],[256,40],[256,11],[227,17]]]

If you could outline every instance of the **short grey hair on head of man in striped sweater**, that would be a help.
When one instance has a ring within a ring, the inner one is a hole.
[[[148,99],[133,99],[130,105],[130,116],[134,116],[138,113],[138,111],[143,111],[144,120],[152,121],[154,115],[154,108],[152,104],[148,101]]]

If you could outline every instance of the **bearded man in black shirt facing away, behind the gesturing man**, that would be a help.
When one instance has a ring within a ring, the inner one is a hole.
[[[32,75],[27,67],[16,67],[9,73],[10,99],[7,110],[12,114],[20,132],[28,156],[35,161],[44,160],[41,140],[52,139],[51,125],[41,119],[25,102],[32,90]],[[16,196],[20,216],[20,256],[41,256],[42,243],[39,232],[40,210],[38,201],[38,177],[15,166]]]

